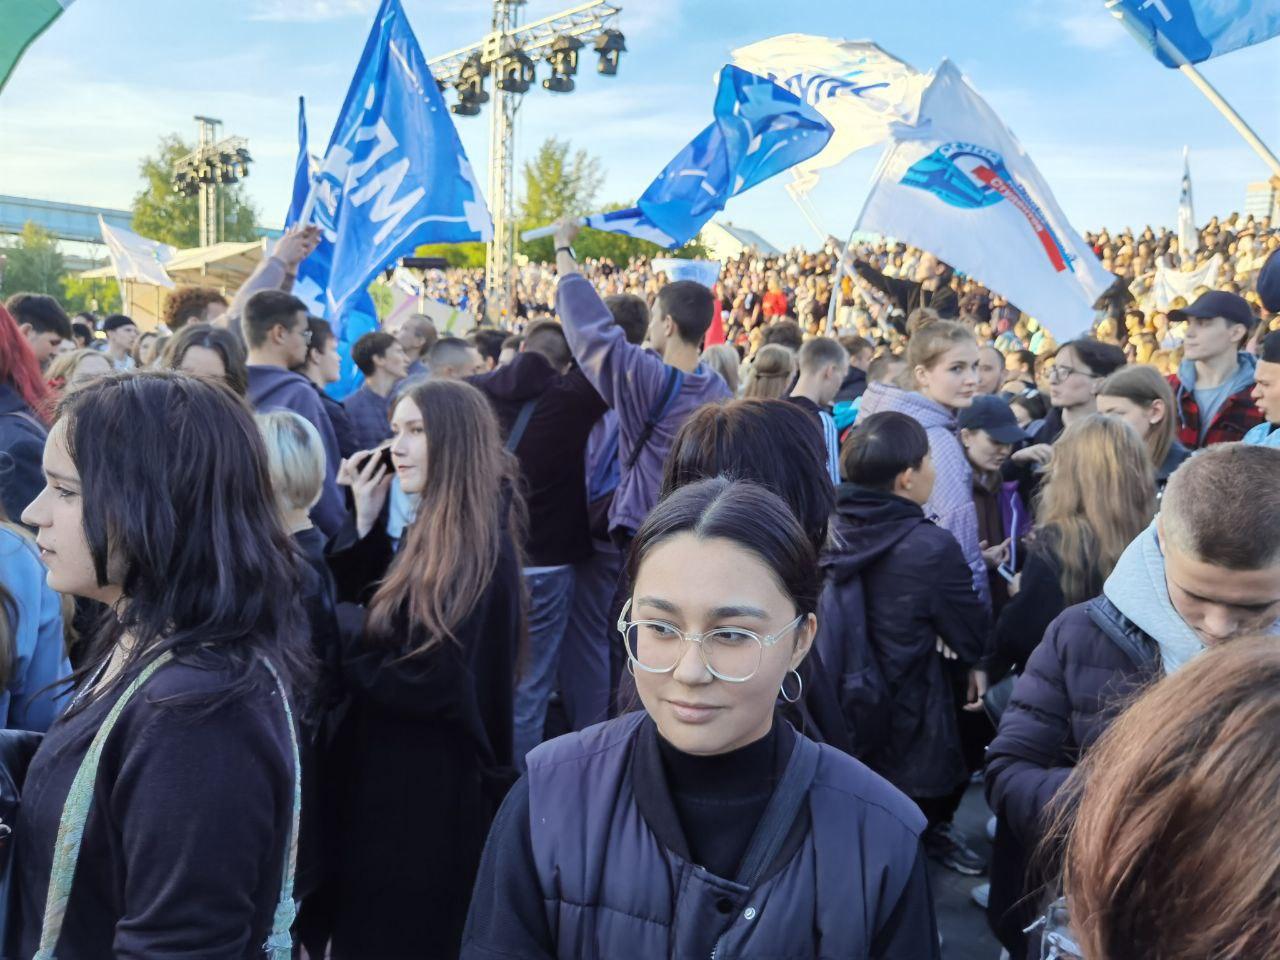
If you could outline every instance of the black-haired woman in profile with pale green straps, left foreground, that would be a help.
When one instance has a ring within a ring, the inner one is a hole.
[[[248,410],[110,376],[63,402],[44,468],[49,585],[114,616],[27,773],[17,955],[288,956],[310,654]]]

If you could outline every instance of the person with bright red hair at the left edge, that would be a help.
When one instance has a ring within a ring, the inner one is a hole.
[[[49,385],[13,315],[0,306],[0,503],[20,517],[45,485],[40,461],[49,424]]]

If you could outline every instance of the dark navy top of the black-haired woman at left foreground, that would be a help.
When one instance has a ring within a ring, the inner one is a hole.
[[[59,957],[262,956],[294,765],[275,682],[265,667],[256,673],[251,692],[210,704],[228,676],[169,663],[123,708],[97,769]],[[17,956],[36,951],[63,805],[123,686],[55,722],[31,762],[14,828]]]

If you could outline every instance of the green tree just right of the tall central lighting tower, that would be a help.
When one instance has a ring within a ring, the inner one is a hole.
[[[520,230],[544,227],[562,216],[593,212],[595,197],[604,183],[598,157],[585,150],[573,151],[567,140],[548,137],[534,159],[525,163],[525,192],[520,204]],[[554,259],[550,237],[521,243],[520,252],[531,260]]]

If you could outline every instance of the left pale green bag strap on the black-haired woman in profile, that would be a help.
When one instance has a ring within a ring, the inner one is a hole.
[[[84,838],[84,823],[88,820],[88,810],[93,805],[93,783],[97,780],[97,765],[102,759],[106,739],[111,735],[115,722],[138,687],[172,659],[173,653],[164,652],[143,667],[133,682],[124,689],[124,692],[108,712],[102,726],[93,735],[93,741],[90,744],[84,759],[81,760],[79,769],[76,771],[76,778],[67,794],[67,803],[63,805],[63,815],[58,822],[58,841],[54,846],[54,863],[49,873],[49,892],[45,896],[45,916],[40,925],[40,947],[32,960],[54,960],[54,950],[58,947],[63,920],[67,916],[67,901],[70,899],[72,882],[76,879],[76,861],[79,859],[81,841]]]

